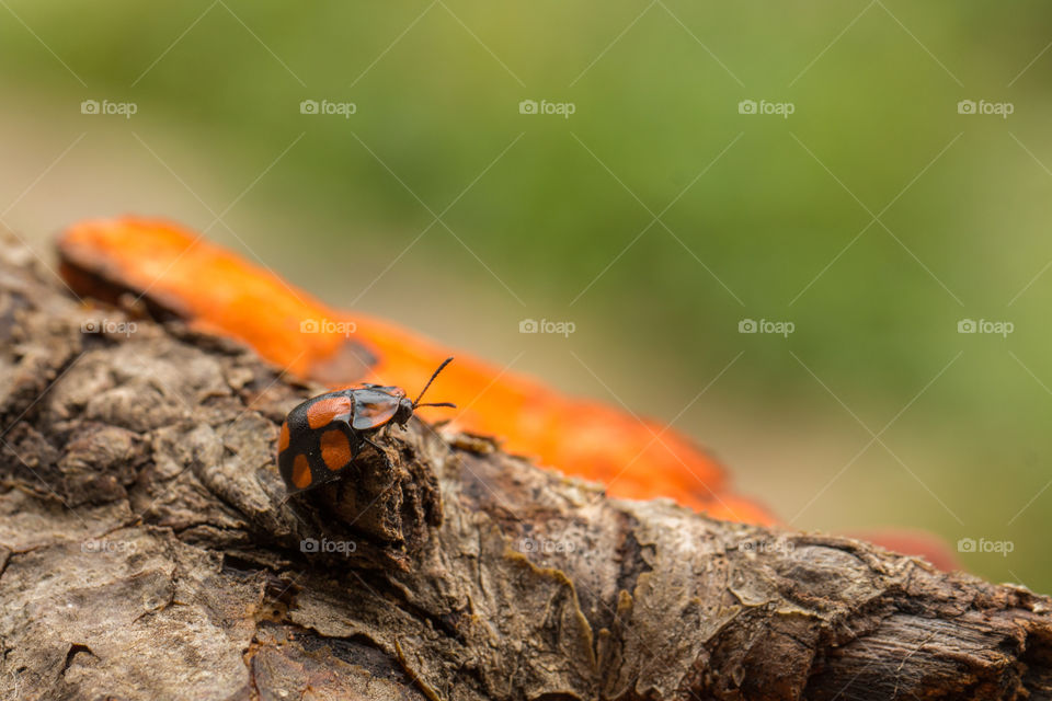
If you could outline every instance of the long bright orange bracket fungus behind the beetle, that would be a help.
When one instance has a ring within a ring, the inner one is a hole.
[[[423,387],[455,402],[454,425],[503,440],[615,497],[671,497],[725,520],[770,524],[759,505],[730,494],[722,468],[686,437],[599,402],[565,397],[530,378],[454,352],[388,322],[331,309],[272,273],[170,221],[82,221],[59,239],[61,273],[83,296],[130,294],[155,315],[237,338],[289,372],[331,388],[358,382]]]

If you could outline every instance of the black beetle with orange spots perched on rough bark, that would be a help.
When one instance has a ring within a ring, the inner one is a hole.
[[[373,436],[398,424],[402,428],[420,406],[449,406],[449,402],[421,404],[424,392],[453,358],[434,371],[415,401],[405,390],[385,384],[325,392],[288,412],[277,443],[277,466],[289,496],[339,479],[365,446],[386,453]],[[388,462],[390,460],[388,459]]]

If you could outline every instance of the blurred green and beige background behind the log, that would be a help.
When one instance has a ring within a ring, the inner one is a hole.
[[[794,527],[1008,541],[961,560],[1048,593],[1050,20],[3,0],[0,219],[42,256],[85,217],[207,229],[334,304],[675,418]]]

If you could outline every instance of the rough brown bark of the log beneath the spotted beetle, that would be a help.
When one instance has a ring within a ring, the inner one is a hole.
[[[277,426],[319,388],[31,263],[0,246],[4,698],[1052,696],[1045,597],[416,421],[393,470],[283,503]]]

